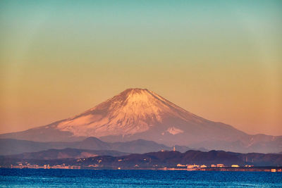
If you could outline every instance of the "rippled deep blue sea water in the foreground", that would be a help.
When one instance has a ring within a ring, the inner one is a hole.
[[[282,187],[282,173],[0,168],[0,187]]]

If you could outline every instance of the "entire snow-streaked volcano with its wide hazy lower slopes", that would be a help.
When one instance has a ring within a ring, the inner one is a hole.
[[[231,125],[206,120],[148,89],[126,89],[72,118],[0,135],[36,142],[74,142],[87,137],[105,142],[146,139],[167,146],[178,144],[243,153],[282,150],[282,136],[246,134]]]

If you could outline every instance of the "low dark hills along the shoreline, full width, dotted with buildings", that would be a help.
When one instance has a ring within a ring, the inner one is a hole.
[[[236,165],[255,165],[255,166],[278,166],[282,165],[282,154],[264,154],[264,153],[233,153],[226,151],[159,151],[144,154],[130,154],[125,156],[95,156],[90,158],[77,159],[55,159],[44,160],[43,158],[24,159],[10,158],[8,156],[0,157],[2,167],[11,167],[18,163],[30,163],[30,165],[79,165],[81,168],[89,166],[97,169],[137,169],[137,168],[162,168],[176,167],[183,164],[212,165],[223,164],[231,166]]]

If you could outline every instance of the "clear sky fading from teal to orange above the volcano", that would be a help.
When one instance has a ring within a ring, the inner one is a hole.
[[[0,1],[0,133],[130,87],[282,135],[282,1]]]

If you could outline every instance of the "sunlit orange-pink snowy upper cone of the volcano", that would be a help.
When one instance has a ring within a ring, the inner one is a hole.
[[[188,112],[148,89],[126,89],[104,103],[64,120],[56,128],[85,137],[135,134],[162,123],[167,116],[185,120],[184,113]]]

